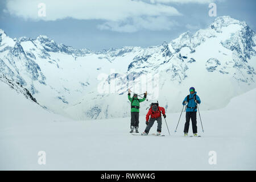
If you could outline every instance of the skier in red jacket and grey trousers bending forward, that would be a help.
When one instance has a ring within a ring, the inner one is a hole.
[[[142,135],[147,135],[148,132],[150,131],[151,127],[154,125],[154,122],[158,122],[158,129],[156,135],[161,134],[161,129],[162,129],[162,117],[161,113],[163,114],[163,117],[166,118],[166,110],[164,110],[164,107],[158,106],[158,103],[151,104],[150,109],[148,110],[148,113],[146,115],[146,129],[142,133]],[[150,119],[149,119],[150,117]],[[149,121],[148,121],[149,119]]]

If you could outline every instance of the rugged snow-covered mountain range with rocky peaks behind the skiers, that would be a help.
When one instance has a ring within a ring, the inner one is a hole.
[[[255,88],[255,43],[255,32],[229,16],[160,46],[97,52],[47,36],[11,39],[1,30],[0,71],[26,87],[40,105],[74,119],[128,116],[128,88],[147,90],[150,101],[176,112],[195,86],[201,109],[210,110]],[[142,103],[142,114],[148,105]]]

